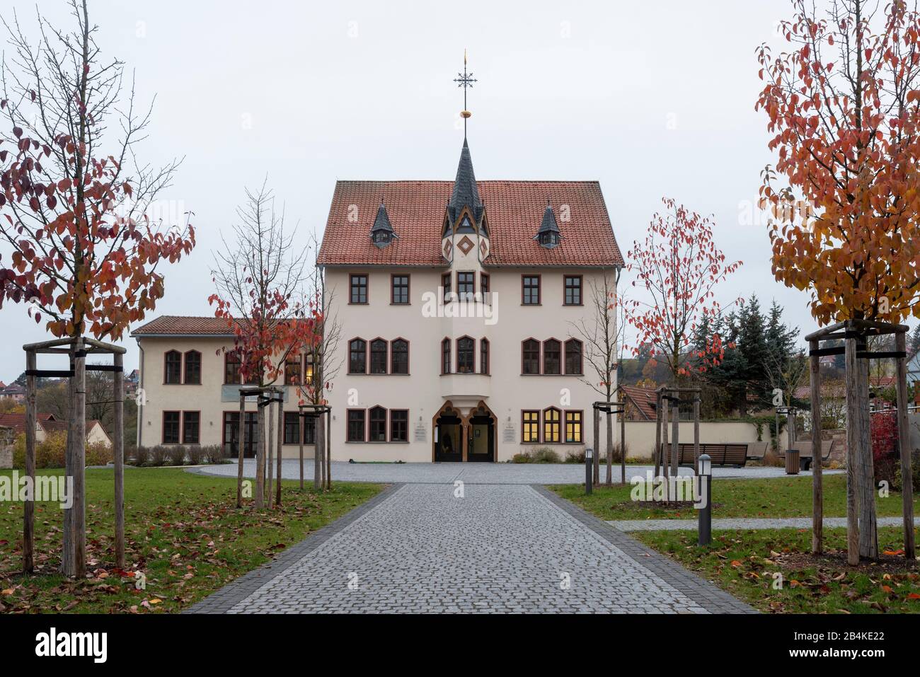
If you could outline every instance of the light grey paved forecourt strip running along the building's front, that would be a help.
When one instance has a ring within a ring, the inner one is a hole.
[[[650,465],[627,465],[627,482],[631,477],[645,477],[652,472]],[[191,468],[189,472],[205,475],[236,477],[236,464],[206,465]],[[824,475],[839,473],[839,470],[824,470]],[[256,463],[247,459],[243,463],[247,477],[256,476]],[[693,475],[689,468],[681,468],[681,475]],[[713,468],[714,477],[765,478],[785,477],[781,467]],[[811,471],[802,472],[811,476]],[[313,479],[313,461],[304,464],[304,476]],[[300,477],[300,464],[296,459],[282,461],[282,477]],[[601,479],[606,477],[606,467],[601,467]],[[510,463],[406,463],[406,464],[350,464],[333,462],[332,478],[343,482],[400,482],[453,484],[460,479],[466,484],[582,484],[584,465],[581,464],[510,464]],[[620,468],[614,467],[614,481],[619,482]]]

